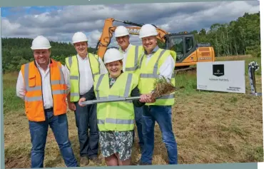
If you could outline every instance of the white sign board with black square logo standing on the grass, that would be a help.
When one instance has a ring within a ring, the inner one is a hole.
[[[197,89],[245,93],[245,61],[198,62]]]

